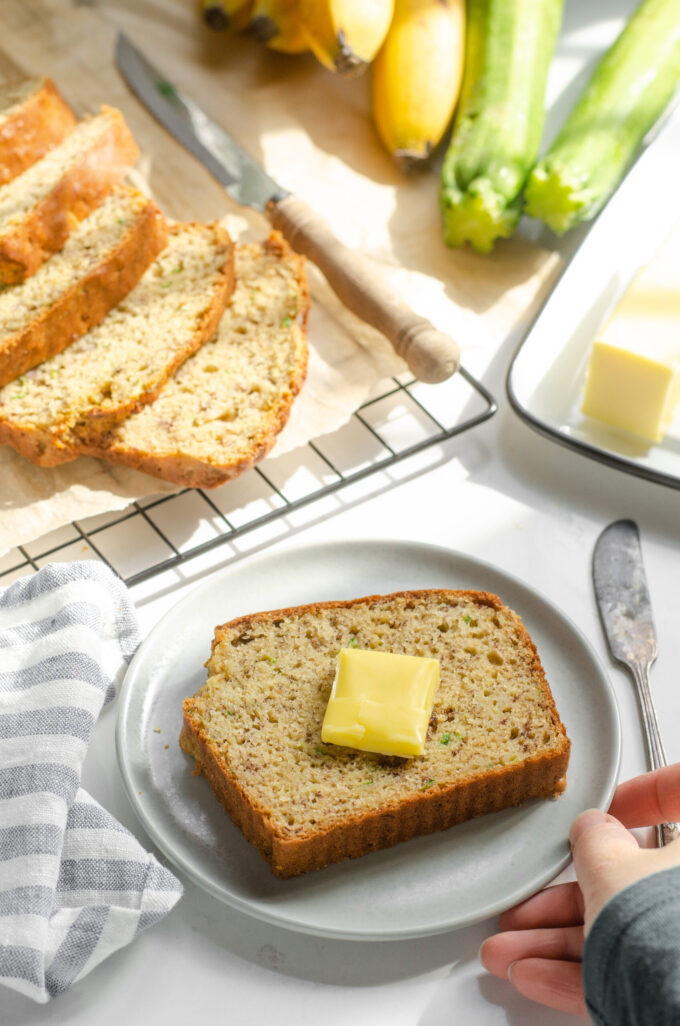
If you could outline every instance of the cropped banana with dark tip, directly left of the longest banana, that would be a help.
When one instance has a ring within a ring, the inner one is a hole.
[[[342,75],[369,64],[387,35],[394,0],[299,0],[299,17],[310,49]]]

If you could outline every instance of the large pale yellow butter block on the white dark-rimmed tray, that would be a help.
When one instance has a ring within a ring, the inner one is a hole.
[[[582,407],[651,442],[663,440],[680,402],[677,271],[675,277],[673,287],[666,267],[652,262],[629,288],[593,343]]]

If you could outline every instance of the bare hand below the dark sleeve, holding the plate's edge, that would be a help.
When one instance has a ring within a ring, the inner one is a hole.
[[[641,849],[626,828],[678,819],[680,763],[621,784],[608,814],[589,810],[571,826],[577,882],[547,887],[504,912],[501,933],[482,945],[483,965],[531,1000],[586,1015],[582,952],[595,916],[624,887],[680,865],[680,838]]]

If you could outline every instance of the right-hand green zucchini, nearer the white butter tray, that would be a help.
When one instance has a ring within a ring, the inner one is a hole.
[[[558,235],[606,203],[680,83],[680,0],[644,0],[531,171],[526,212]]]

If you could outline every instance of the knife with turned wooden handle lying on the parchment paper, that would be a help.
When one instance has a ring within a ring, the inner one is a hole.
[[[138,100],[243,206],[265,213],[297,252],[316,264],[338,299],[381,331],[419,381],[441,382],[461,364],[453,339],[415,314],[381,280],[379,269],[343,245],[298,197],[276,184],[194,101],[152,67],[122,33],[116,64]]]

